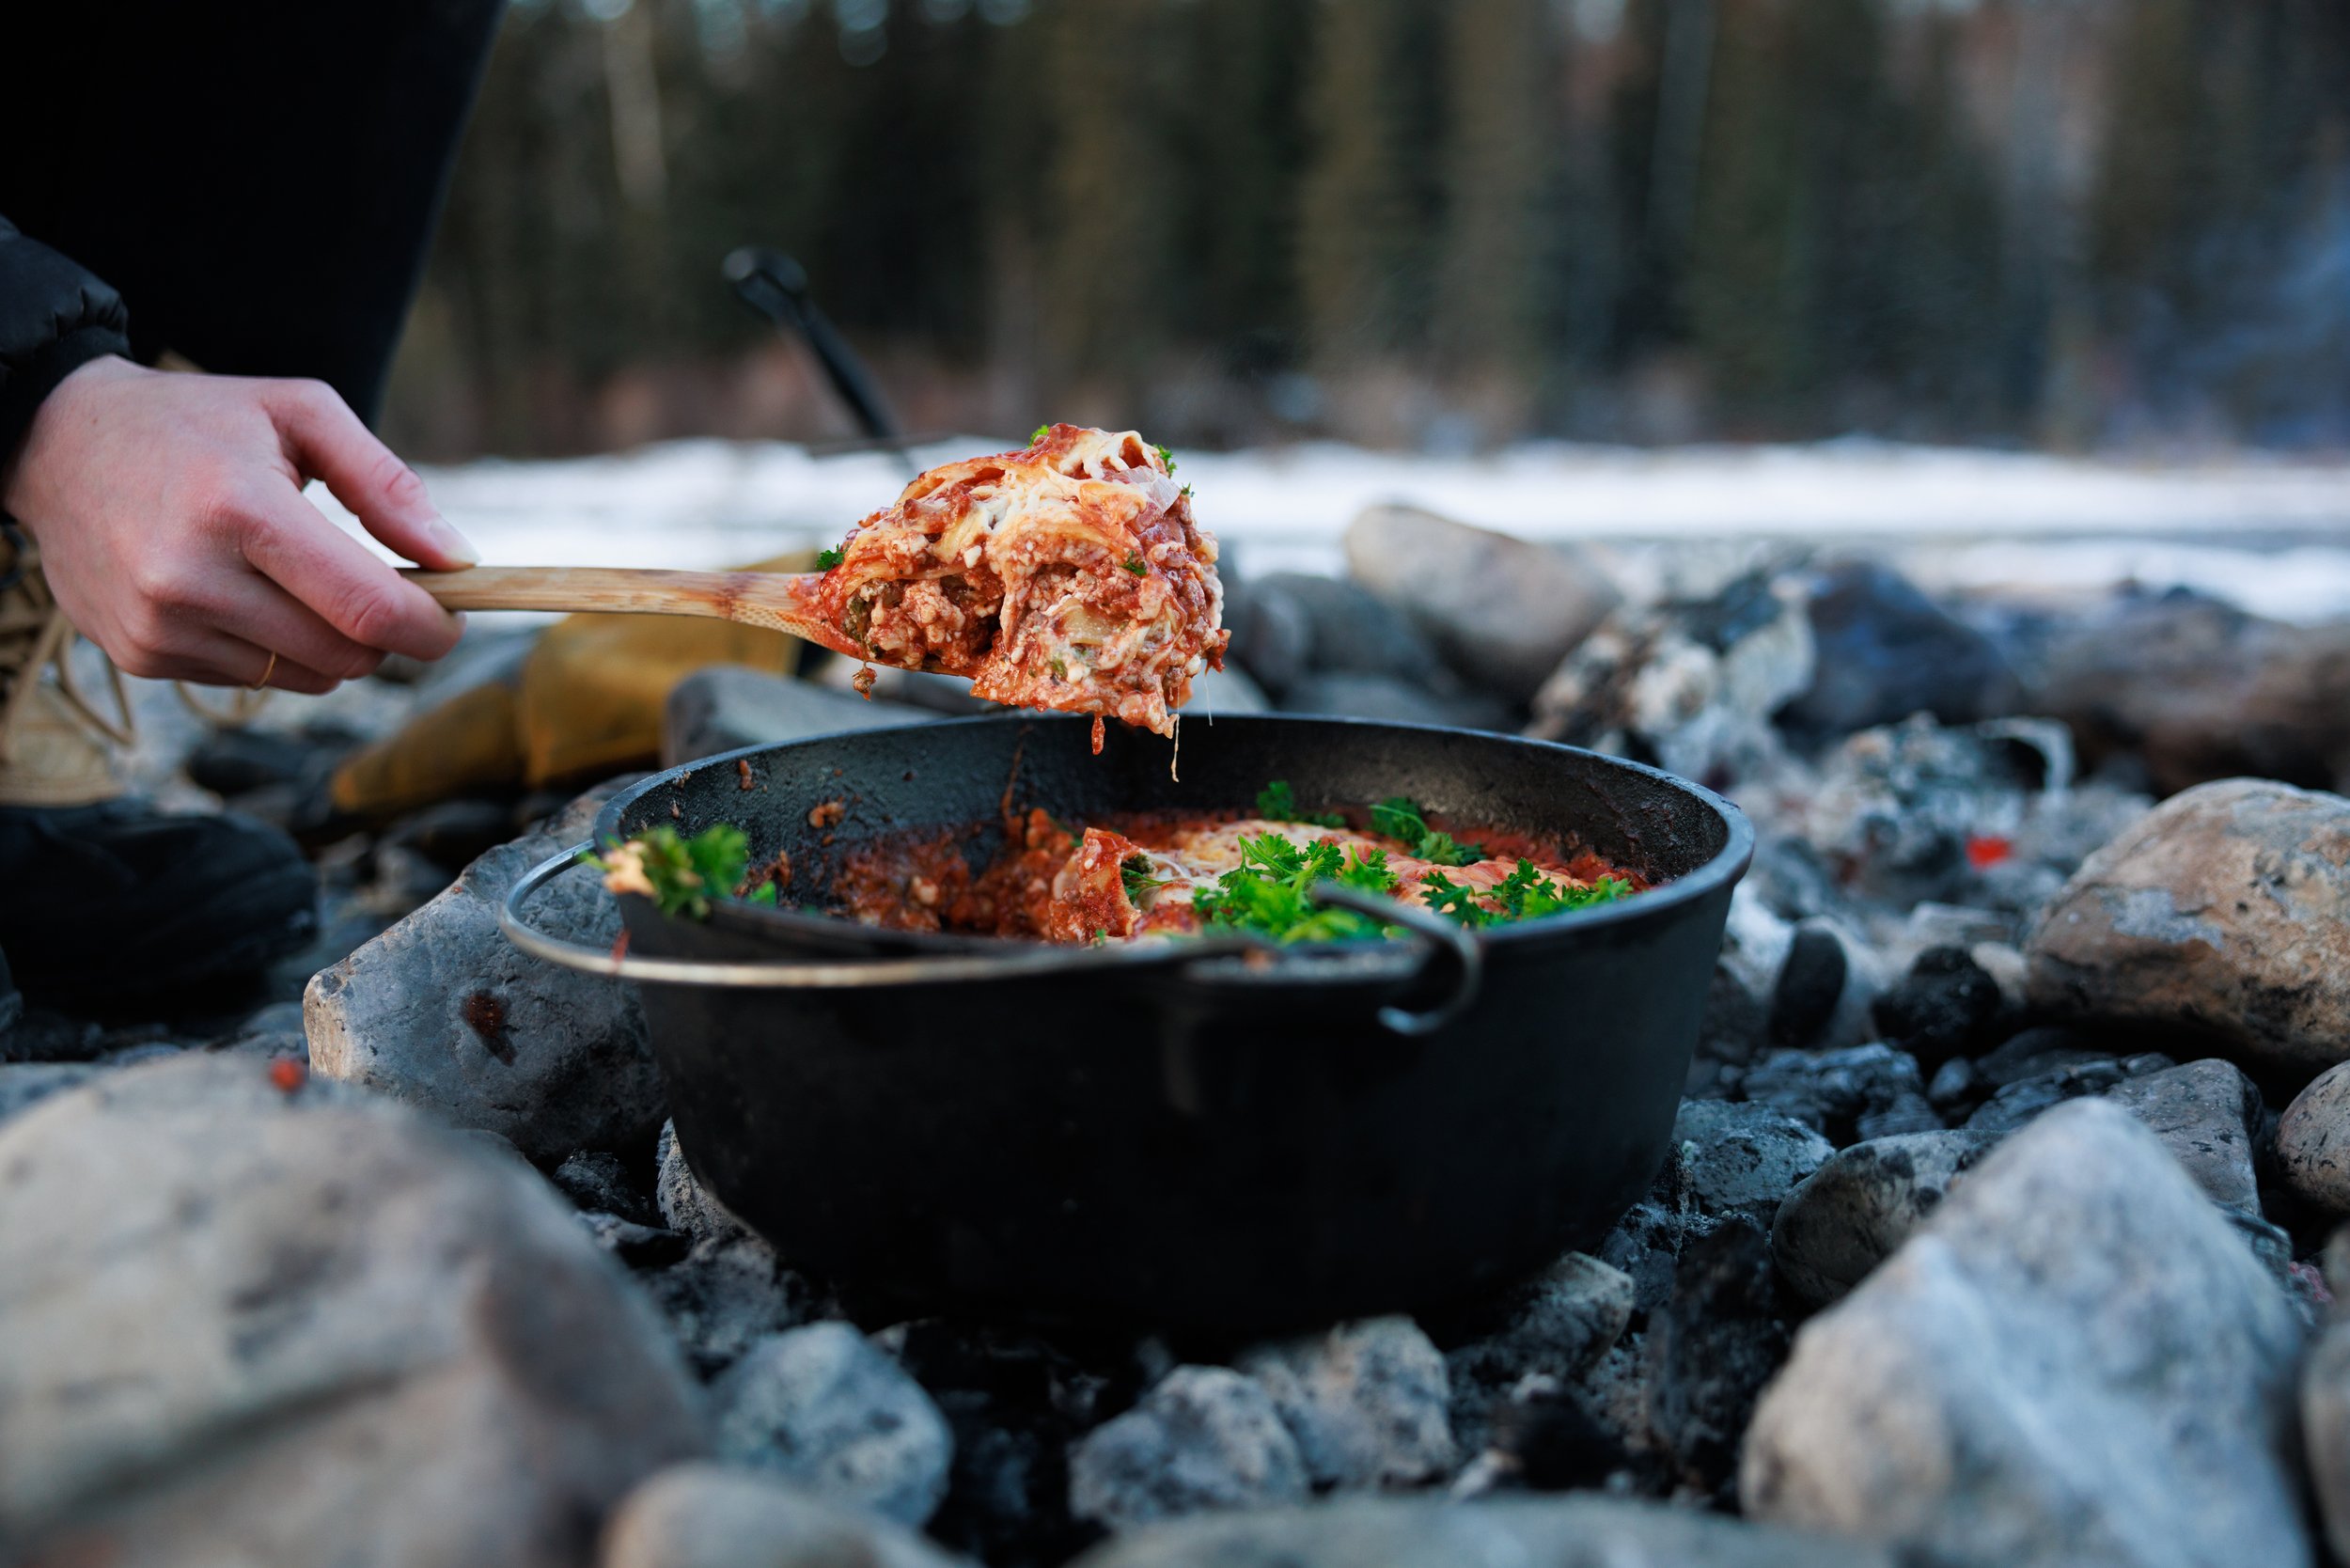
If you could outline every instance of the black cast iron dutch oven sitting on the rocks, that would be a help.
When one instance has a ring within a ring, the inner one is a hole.
[[[691,924],[625,898],[616,959],[522,919],[559,858],[517,884],[508,933],[646,983],[696,1173],[877,1307],[1262,1333],[1441,1307],[1598,1241],[1664,1159],[1753,849],[1734,806],[1668,773],[1513,736],[1194,717],[1177,783],[1166,741],[1093,757],[1083,719],[1018,715],[672,769],[613,797],[597,839],[736,823],[813,898],[874,835],[980,825],[978,863],[1006,806],[1234,809],[1274,778],[1316,811],[1410,795],[1661,886],[1476,936],[1417,910],[1408,940],[1281,952],[750,905]]]

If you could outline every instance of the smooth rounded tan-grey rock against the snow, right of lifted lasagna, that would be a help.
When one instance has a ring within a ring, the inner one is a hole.
[[[1347,571],[1426,628],[1455,670],[1511,703],[1558,668],[1617,607],[1584,550],[1535,545],[1408,505],[1347,524]]]

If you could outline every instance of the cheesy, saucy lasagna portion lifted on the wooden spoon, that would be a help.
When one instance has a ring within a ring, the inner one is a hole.
[[[1166,456],[1079,425],[907,484],[841,543],[815,611],[874,663],[1161,736],[1231,637],[1215,536]]]

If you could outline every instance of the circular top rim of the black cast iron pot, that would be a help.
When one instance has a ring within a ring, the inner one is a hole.
[[[1488,731],[1488,729],[1459,729],[1459,726],[1450,726],[1450,724],[1403,724],[1403,722],[1386,722],[1386,719],[1349,719],[1349,717],[1337,717],[1337,715],[1248,712],[1248,715],[1220,715],[1217,722],[1220,724],[1278,724],[1278,726],[1297,726],[1297,729],[1309,729],[1309,731],[1311,729],[1323,729],[1323,731],[1340,731],[1340,729],[1365,731],[1365,729],[1379,729],[1379,731],[1438,733],[1438,736],[1457,736],[1457,738],[1469,738],[1469,741],[1497,741],[1497,743],[1504,743],[1504,745],[1518,745],[1518,748],[1530,748],[1530,750],[1539,750],[1539,752],[1560,752],[1560,755],[1567,755],[1567,757],[1589,757],[1589,759],[1596,759],[1596,762],[1600,762],[1600,764],[1605,764],[1610,769],[1619,769],[1624,773],[1645,776],[1645,778],[1650,778],[1654,783],[1661,783],[1661,785],[1666,785],[1671,790],[1690,795],[1699,804],[1704,804],[1716,818],[1720,818],[1720,823],[1725,825],[1727,839],[1723,842],[1723,846],[1711,858],[1706,858],[1704,865],[1699,865],[1697,870],[1683,872],[1680,877],[1673,877],[1671,882],[1664,882],[1664,884],[1659,884],[1654,889],[1647,889],[1645,893],[1638,893],[1633,898],[1624,898],[1624,900],[1617,900],[1617,903],[1593,905],[1589,910],[1567,910],[1563,914],[1546,914],[1542,919],[1513,922],[1509,926],[1480,926],[1473,933],[1478,943],[1492,945],[1492,947],[1499,947],[1499,950],[1518,947],[1518,945],[1525,945],[1525,943],[1553,940],[1553,938],[1574,936],[1574,933],[1584,933],[1584,931],[1603,931],[1603,929],[1612,929],[1612,926],[1647,922],[1650,917],[1661,917],[1661,914],[1666,914],[1671,910],[1678,910],[1683,905],[1699,903],[1699,900],[1708,898],[1711,893],[1716,893],[1716,891],[1734,884],[1739,877],[1744,877],[1748,863],[1753,860],[1753,851],[1755,851],[1755,830],[1753,830],[1753,823],[1748,823],[1746,813],[1739,811],[1739,806],[1732,804],[1730,799],[1723,799],[1720,795],[1716,795],[1713,790],[1704,788],[1701,783],[1694,783],[1694,780],[1683,778],[1678,773],[1666,773],[1664,769],[1650,766],[1645,762],[1631,762],[1626,757],[1610,757],[1607,752],[1593,752],[1593,750],[1582,748],[1582,745],[1563,745],[1558,741],[1537,741],[1532,736],[1509,736],[1509,733]],[[999,712],[982,712],[982,715],[971,715],[971,717],[961,717],[961,719],[938,719],[938,722],[928,722],[928,724],[893,726],[888,733],[919,736],[919,733],[959,731],[959,729],[973,729],[973,726],[1039,726],[1039,724],[1074,726],[1074,724],[1090,724],[1090,719],[1083,717],[1083,715],[1060,715],[1060,712],[1001,712],[1001,715]],[[766,757],[766,755],[773,755],[773,752],[815,750],[815,748],[825,748],[825,745],[846,741],[851,736],[872,736],[872,733],[877,733],[877,731],[872,731],[872,729],[839,729],[839,731],[827,731],[827,733],[820,733],[820,736],[801,736],[797,741],[768,741],[768,743],[759,743],[759,745],[743,745],[743,748],[736,748],[731,752],[717,752],[717,755],[710,755],[710,757],[696,757],[693,762],[684,762],[684,764],[679,764],[674,769],[663,769],[660,773],[651,773],[646,778],[639,778],[637,783],[627,785],[625,790],[620,790],[618,795],[613,795],[611,799],[604,802],[602,811],[597,811],[597,818],[595,818],[595,842],[604,844],[604,842],[618,839],[620,837],[620,818],[627,813],[630,806],[634,806],[639,799],[644,799],[646,795],[651,795],[656,790],[670,788],[674,783],[682,783],[684,778],[691,778],[693,773],[700,773],[703,769],[726,766],[726,764],[736,764],[736,762],[743,762],[743,759],[750,759],[750,757]],[[738,903],[738,900],[724,903],[719,907],[726,914],[726,926],[738,929],[738,931],[747,931],[747,933],[776,936],[776,938],[815,938],[815,940],[827,940],[830,938],[830,940],[837,940],[844,933],[844,926],[851,926],[851,922],[844,922],[841,917],[834,917],[834,914],[801,914],[797,910],[773,910],[773,907],[747,905],[747,903]],[[893,947],[902,947],[907,954],[1032,952],[1039,945],[1039,943],[1022,940],[1022,938],[1015,938],[1015,936],[978,936],[978,933],[942,933],[942,931],[874,931],[874,929],[865,929],[865,926],[853,926],[853,929],[860,931],[867,938],[874,938],[874,936],[888,938]],[[1330,959],[1337,959],[1337,957],[1342,957],[1347,952],[1361,952],[1361,950],[1363,950],[1361,943],[1297,943],[1297,945],[1290,945],[1290,947],[1281,947],[1281,945],[1267,943],[1267,952],[1271,952],[1271,954],[1300,957],[1300,959],[1318,959],[1321,964],[1328,964]]]

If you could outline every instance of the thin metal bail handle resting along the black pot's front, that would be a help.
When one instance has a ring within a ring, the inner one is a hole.
[[[968,954],[945,959],[851,959],[841,964],[752,964],[717,959],[646,959],[625,952],[620,945],[590,947],[588,943],[548,936],[533,926],[522,905],[538,889],[583,865],[580,856],[595,849],[583,839],[559,856],[533,865],[505,893],[498,907],[498,931],[522,952],[548,964],[578,969],[590,976],[618,980],[649,980],[653,985],[717,985],[731,990],[846,990],[867,985],[942,985],[952,980],[1001,980],[1003,976],[1067,973],[1083,969],[1159,969],[1166,964],[1196,964],[1201,959],[1262,957],[1264,943],[1248,938],[1201,940],[1182,945],[1104,945],[1104,947],[1041,947],[1013,954]],[[1412,933],[1412,973],[1426,973],[1434,964],[1452,971],[1445,994],[1429,1009],[1382,1006],[1379,1023],[1396,1034],[1426,1034],[1450,1023],[1478,992],[1483,954],[1464,929],[1438,919],[1431,910],[1363,893],[1323,882],[1314,889],[1316,903],[1335,903],[1361,910],[1377,919],[1394,922]]]

